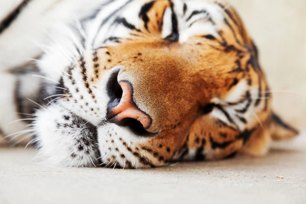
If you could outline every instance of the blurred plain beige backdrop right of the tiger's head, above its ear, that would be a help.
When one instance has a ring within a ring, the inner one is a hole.
[[[274,109],[306,127],[306,0],[227,2],[236,8],[260,50],[261,65],[276,92]]]

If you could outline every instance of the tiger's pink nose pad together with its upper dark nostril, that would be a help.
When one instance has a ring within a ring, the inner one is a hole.
[[[151,125],[151,118],[141,111],[133,100],[133,87],[129,82],[117,82],[117,77],[113,77],[113,82],[109,83],[109,94],[111,96],[108,104],[108,121],[118,125],[124,125],[127,119],[138,120],[144,129]]]

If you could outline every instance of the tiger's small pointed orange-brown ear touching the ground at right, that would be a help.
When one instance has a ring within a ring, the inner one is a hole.
[[[274,141],[291,139],[299,134],[299,131],[284,122],[278,115],[274,112],[271,116],[271,137]]]

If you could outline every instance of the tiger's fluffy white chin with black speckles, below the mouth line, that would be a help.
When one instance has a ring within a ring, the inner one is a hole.
[[[35,115],[35,143],[44,164],[71,167],[98,164],[93,125],[57,104],[38,110]]]

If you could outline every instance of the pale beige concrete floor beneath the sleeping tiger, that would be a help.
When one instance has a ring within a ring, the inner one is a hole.
[[[0,203],[306,203],[305,146],[306,134],[265,158],[141,170],[47,167],[2,148]]]

